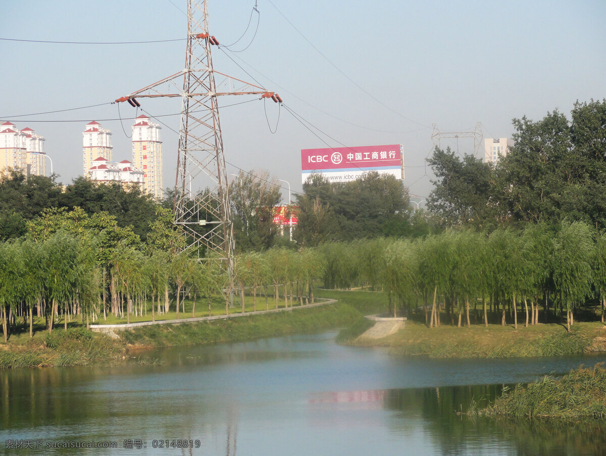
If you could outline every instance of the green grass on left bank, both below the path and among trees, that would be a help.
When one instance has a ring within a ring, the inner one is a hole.
[[[203,321],[199,323],[145,326],[119,332],[119,340],[85,329],[80,318],[68,323],[68,330],[62,329],[62,321],[52,333],[44,330],[44,319],[35,319],[35,334],[30,339],[27,330],[11,334],[8,343],[0,343],[0,369],[42,366],[78,366],[94,362],[116,361],[127,353],[128,349],[137,347],[168,347],[193,344],[208,344],[251,340],[262,337],[275,337],[284,334],[314,332],[337,327],[349,327],[359,321],[366,313],[376,313],[376,294],[374,300],[368,300],[371,293],[363,292],[316,292],[316,297],[337,298],[341,302],[310,309],[296,309],[278,314],[251,315],[233,320]],[[275,309],[275,300],[268,299],[270,309]],[[191,317],[191,301],[185,301],[185,313],[179,317]],[[241,312],[239,300],[230,309],[230,314]],[[245,310],[251,311],[251,297],[246,297]],[[284,300],[279,302],[284,307]],[[290,307],[290,303],[289,303]],[[173,307],[174,308],[174,307]],[[196,303],[196,317],[208,315],[208,301]],[[257,310],[265,309],[265,299],[257,298]],[[369,310],[372,309],[372,310]],[[225,313],[225,303],[221,298],[213,300],[213,315]],[[176,318],[176,312],[157,316],[157,320]],[[151,309],[147,317],[131,317],[131,321],[150,321]],[[126,319],[108,316],[95,323],[125,323]],[[92,323],[92,322],[91,322]],[[150,358],[138,358],[141,364],[158,363]]]

